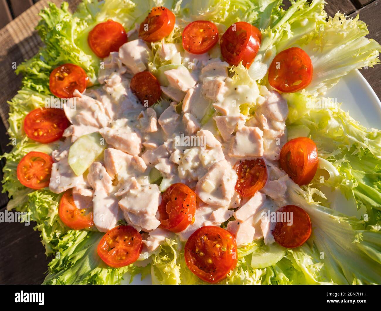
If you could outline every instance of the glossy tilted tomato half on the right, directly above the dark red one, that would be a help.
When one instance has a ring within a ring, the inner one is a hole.
[[[316,144],[307,137],[291,139],[280,151],[280,166],[299,186],[311,182],[318,162]]]

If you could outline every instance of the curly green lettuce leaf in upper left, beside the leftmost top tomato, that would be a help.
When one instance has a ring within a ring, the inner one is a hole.
[[[78,42],[78,36],[87,24],[68,11],[69,4],[63,2],[61,8],[49,3],[40,12],[42,19],[36,30],[45,44],[32,59],[19,65],[16,73],[21,73],[22,86],[41,94],[50,94],[50,72],[63,63],[74,63],[82,67],[94,83],[99,59],[88,48],[87,42]]]

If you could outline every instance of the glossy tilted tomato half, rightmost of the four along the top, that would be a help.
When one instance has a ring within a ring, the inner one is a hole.
[[[220,40],[221,54],[230,65],[249,68],[261,45],[262,34],[255,26],[247,22],[232,24]]]

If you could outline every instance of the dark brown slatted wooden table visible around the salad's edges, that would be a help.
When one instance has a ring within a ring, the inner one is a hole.
[[[50,0],[59,3],[61,0]],[[367,23],[370,38],[381,43],[381,0],[326,0],[326,11],[334,15],[341,11],[347,15],[356,16]],[[74,10],[80,0],[69,0],[70,8]],[[285,1],[283,1],[285,2]],[[34,4],[35,3],[35,4]],[[20,86],[20,77],[9,72],[9,64],[13,61],[22,62],[32,57],[41,42],[32,33],[37,24],[36,14],[47,3],[47,0],[0,0],[0,81],[11,81],[2,86],[0,104],[12,98]],[[33,5],[34,4],[34,5]],[[287,5],[286,5],[287,6]],[[5,73],[5,74],[4,74]],[[368,80],[379,98],[381,98],[381,70],[368,68],[361,73]],[[5,76],[6,75],[6,76]],[[11,80],[9,79],[11,75]],[[0,122],[0,151],[9,150],[6,146],[6,111],[2,113]],[[3,165],[3,163],[1,163]],[[0,174],[0,178],[2,178]],[[1,186],[0,186],[1,187]],[[8,199],[0,195],[0,210],[5,209]],[[41,284],[50,258],[46,258],[44,248],[40,243],[38,232],[23,224],[0,224],[0,284]]]

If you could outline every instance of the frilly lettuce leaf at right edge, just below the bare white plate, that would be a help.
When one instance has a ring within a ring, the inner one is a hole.
[[[339,107],[329,106],[329,98],[316,102],[301,93],[284,97],[289,106],[288,127],[309,129],[311,139],[319,142],[319,168],[328,172],[326,176],[318,171],[308,189],[340,189],[347,200],[354,200],[359,210],[366,211],[362,217],[367,224],[377,224],[381,219],[381,130],[363,127]],[[323,203],[330,204],[329,200]],[[349,210],[346,214],[355,215]]]

